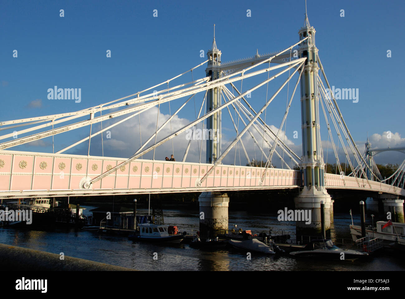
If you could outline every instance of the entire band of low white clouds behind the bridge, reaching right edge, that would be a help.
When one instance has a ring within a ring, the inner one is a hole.
[[[158,115],[158,107],[153,107],[143,113],[141,113],[140,119],[141,119],[141,134],[142,134],[142,143],[145,143],[147,139],[156,131],[156,118]],[[158,128],[166,121],[170,115],[164,114],[161,111],[159,111],[159,124]],[[193,118],[194,119],[194,118]],[[103,128],[106,126],[113,124],[113,122],[116,122],[117,120],[111,120],[111,121],[105,121],[103,122]],[[173,117],[173,120],[171,121],[171,128],[170,129],[170,123],[167,124],[159,133],[157,137],[157,141],[160,141],[162,138],[168,136],[171,134],[171,132],[175,132],[179,128],[182,128],[189,124],[191,120],[187,118],[181,118],[178,115]],[[199,124],[198,127],[201,128],[202,124]],[[278,128],[274,125],[269,125],[270,128],[273,130],[275,134],[278,132]],[[206,125],[205,125],[206,127]],[[243,129],[244,125],[239,126],[239,131]],[[259,128],[259,127],[258,127]],[[96,130],[96,128],[94,128]],[[260,129],[260,132],[262,133],[262,129]],[[110,129],[111,131],[111,139],[106,138],[106,132],[104,132],[103,135],[103,140],[104,140],[104,156],[113,156],[113,157],[122,157],[122,158],[128,158],[132,156],[140,147],[141,145],[141,139],[139,135],[139,116],[135,116],[131,118],[130,120],[115,126],[114,128]],[[256,141],[260,147],[263,145],[263,151],[266,155],[269,155],[269,150],[271,148],[270,145],[267,145],[266,142],[263,142],[262,137],[260,136],[260,133],[255,129],[251,128],[250,132],[254,135],[256,138]],[[174,137],[172,140],[168,140],[159,147],[156,148],[155,151],[155,159],[156,160],[164,160],[164,158],[170,157],[171,154],[174,154],[175,158],[177,161],[181,161],[183,159],[183,155],[185,152],[185,149],[188,145],[188,140],[185,138],[186,133],[183,132],[179,136]],[[236,136],[236,132],[234,131],[233,126],[230,128],[223,128],[222,130],[222,152],[226,150],[228,145],[233,141],[233,139]],[[273,136],[273,135],[272,135]],[[391,138],[388,138],[391,137]],[[294,142],[290,139],[288,139],[288,136],[285,135],[285,132],[281,130],[279,138],[283,140],[288,147],[291,148],[299,157],[302,155],[302,145],[300,144],[294,144]],[[266,136],[266,139],[270,142],[271,145],[273,145],[273,140]],[[337,147],[337,137],[335,138],[334,136],[334,141],[335,145]],[[245,146],[245,150],[247,151],[247,154],[249,156],[249,160],[252,160],[255,158],[256,160],[260,161],[266,160],[264,156],[262,155],[262,152],[260,151],[258,145],[256,145],[249,134],[249,132],[245,132],[243,137],[241,138],[243,145]],[[301,136],[299,136],[299,139],[297,141],[301,141]],[[371,135],[370,141],[372,143],[373,148],[386,148],[388,146],[390,147],[405,147],[405,138],[401,138],[401,135],[398,132],[391,133],[389,135],[389,132],[383,132],[382,134],[375,133]],[[155,138],[148,143],[147,146],[144,147],[147,148],[151,144],[155,142]],[[360,151],[360,154],[363,154],[364,152],[364,143],[365,141],[357,141],[356,144],[358,146],[358,149]],[[198,144],[198,145],[197,145]],[[205,162],[206,160],[206,154],[205,154],[205,144],[206,141],[203,140],[203,146],[202,146],[202,152],[201,152],[201,162]],[[237,150],[236,150],[236,155],[235,155],[235,147],[233,147],[230,152],[227,154],[227,156],[222,160],[223,164],[242,164],[245,165],[247,163],[247,159],[245,157],[245,154],[243,152],[242,147],[240,146],[240,143],[237,145]],[[172,148],[173,146],[173,148]],[[187,162],[198,162],[200,160],[200,146],[201,146],[201,141],[197,142],[195,140],[191,141],[191,146],[190,150],[188,152],[188,156],[186,161]],[[322,148],[324,151],[324,162],[328,163],[335,163],[336,158],[335,154],[333,152],[333,147],[331,145],[330,140],[322,140]],[[349,154],[349,157],[352,161],[352,164],[354,167],[356,167],[357,162],[353,157],[352,150],[350,149],[350,146],[345,145],[346,151]],[[81,149],[81,150],[80,150]],[[86,150],[87,152],[87,145],[83,143],[81,147],[79,147],[77,150],[75,150],[75,154],[82,154],[83,149]],[[80,150],[80,151],[78,151]],[[290,167],[294,166],[294,164],[291,163],[290,158],[288,158],[287,154],[283,154],[283,152],[277,147],[277,152],[284,158],[284,160],[288,163]],[[92,147],[90,150],[90,154],[92,155],[101,155],[101,139],[100,137],[94,137],[92,138]],[[327,155],[328,154],[328,159]],[[239,158],[240,157],[240,158]],[[148,152],[143,156],[144,159],[152,159],[153,158],[153,150]],[[405,156],[399,152],[385,152],[378,154],[375,157],[375,161],[379,164],[386,164],[386,163],[401,163]],[[299,159],[296,158],[296,160],[299,162]],[[339,145],[339,161],[341,163],[347,162],[347,157],[344,153],[344,150],[341,145]],[[276,165],[277,167],[281,167],[281,161],[277,157],[277,154],[273,154],[273,164]]]

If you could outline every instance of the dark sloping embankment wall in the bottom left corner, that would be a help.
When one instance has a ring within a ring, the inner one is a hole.
[[[134,271],[94,261],[0,243],[3,271]]]

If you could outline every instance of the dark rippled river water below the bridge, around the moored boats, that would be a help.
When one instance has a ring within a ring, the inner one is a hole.
[[[85,214],[91,214],[86,206]],[[140,209],[138,214],[147,214]],[[232,211],[229,226],[234,224],[254,232],[285,231],[295,232],[295,222],[279,222],[270,213],[249,213]],[[198,231],[198,211],[164,210],[164,221],[168,225],[179,226],[180,231]],[[335,214],[331,229],[332,237],[351,238],[350,216]],[[360,223],[360,218],[353,218]],[[67,256],[85,258],[92,261],[119,265],[128,268],[151,271],[241,271],[241,270],[405,270],[399,254],[379,254],[370,261],[317,261],[296,259],[290,256],[263,256],[252,252],[252,259],[246,259],[246,252],[230,249],[202,251],[187,244],[159,245],[129,241],[127,237],[99,235],[94,231],[75,229],[55,230],[16,230],[0,229],[0,243],[11,244],[36,250],[43,250]],[[153,260],[153,253],[158,260]]]

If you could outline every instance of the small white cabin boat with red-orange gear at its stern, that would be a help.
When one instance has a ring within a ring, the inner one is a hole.
[[[168,226],[153,223],[139,224],[139,234],[129,235],[128,239],[134,241],[180,243],[184,235],[178,233],[169,234]]]

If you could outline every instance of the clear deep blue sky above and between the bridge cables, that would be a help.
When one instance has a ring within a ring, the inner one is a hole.
[[[373,136],[373,147],[405,146],[404,6],[403,1],[307,1],[309,22],[316,30],[316,46],[330,84],[359,89],[358,103],[341,100],[338,104],[361,152],[367,132]],[[158,17],[153,17],[154,9]],[[246,16],[247,9],[251,17]],[[341,9],[345,17],[340,17]],[[252,56],[256,49],[259,53],[285,49],[298,41],[304,13],[303,0],[0,1],[0,121],[85,109],[174,77],[206,59],[200,57],[200,50],[211,47],[213,23],[222,62]],[[13,50],[18,51],[17,58]],[[107,50],[111,58],[106,57]],[[205,67],[193,72],[194,79],[205,77]],[[191,75],[187,76],[182,82],[191,81]],[[55,85],[81,88],[81,103],[49,100],[47,89]],[[280,96],[267,114],[271,117],[268,124],[276,127],[287,94]],[[264,103],[264,97],[260,92],[252,96],[255,107]],[[196,97],[197,106],[201,100],[201,95]],[[160,111],[167,114],[167,105]],[[181,117],[190,120],[190,115],[194,115],[194,105]],[[294,130],[301,133],[300,117],[297,93],[286,127],[286,138],[297,149],[301,136],[293,139],[292,135]],[[224,139],[232,140],[232,123],[224,120],[223,127],[223,134],[230,132]],[[125,128],[130,130],[130,126]],[[394,138],[384,138],[387,131]],[[327,139],[322,121],[321,134]],[[86,135],[88,128],[55,137],[55,143],[60,149]],[[121,141],[116,145],[126,146],[120,138],[114,138]],[[39,146],[13,149],[49,152],[51,142],[48,138]],[[127,146],[128,151],[114,151],[111,146],[109,154],[132,154],[136,140],[130,142],[134,144]],[[87,154],[87,146],[71,153]],[[100,154],[96,143],[90,154]],[[403,160],[400,153],[377,157],[382,163]]]

